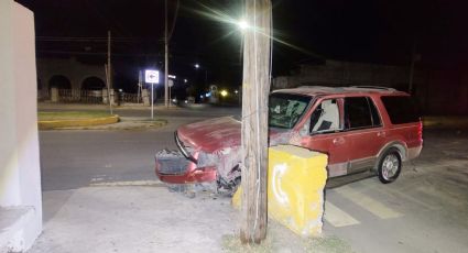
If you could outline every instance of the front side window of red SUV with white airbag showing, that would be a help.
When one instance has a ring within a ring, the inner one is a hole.
[[[337,99],[327,99],[317,106],[311,116],[312,132],[334,132],[340,130],[340,116]]]

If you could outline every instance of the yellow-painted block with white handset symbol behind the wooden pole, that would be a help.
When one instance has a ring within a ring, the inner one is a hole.
[[[293,232],[319,235],[324,215],[327,155],[293,145],[269,148],[268,212]],[[232,197],[240,207],[241,188]]]

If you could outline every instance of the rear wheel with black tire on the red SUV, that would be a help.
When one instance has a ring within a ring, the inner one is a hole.
[[[395,147],[391,147],[379,161],[379,166],[377,173],[379,175],[379,180],[383,184],[389,184],[394,182],[401,173],[402,161],[400,152]]]

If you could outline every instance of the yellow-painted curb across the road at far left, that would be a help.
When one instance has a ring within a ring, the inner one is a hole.
[[[119,116],[102,117],[95,119],[80,119],[80,120],[46,120],[39,121],[39,130],[52,130],[70,127],[90,127],[101,124],[112,124],[119,122]]]

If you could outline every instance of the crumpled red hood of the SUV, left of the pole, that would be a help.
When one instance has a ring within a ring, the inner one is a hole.
[[[208,153],[240,146],[241,122],[232,117],[209,119],[177,129],[178,138],[195,150]]]

